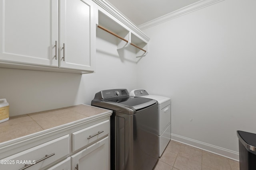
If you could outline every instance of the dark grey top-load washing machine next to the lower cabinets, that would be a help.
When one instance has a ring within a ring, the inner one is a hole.
[[[110,109],[110,169],[152,170],[158,160],[158,102],[129,96],[126,89],[102,90],[92,106]]]

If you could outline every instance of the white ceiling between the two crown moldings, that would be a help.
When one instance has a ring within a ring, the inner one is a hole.
[[[141,25],[200,0],[108,0],[135,25]]]

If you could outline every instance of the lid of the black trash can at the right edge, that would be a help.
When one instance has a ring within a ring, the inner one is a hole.
[[[256,151],[256,134],[237,131],[239,141],[246,147],[247,150]]]

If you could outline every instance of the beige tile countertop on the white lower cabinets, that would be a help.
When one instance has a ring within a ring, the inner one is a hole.
[[[0,143],[102,113],[109,111],[82,104],[13,116],[0,123]]]

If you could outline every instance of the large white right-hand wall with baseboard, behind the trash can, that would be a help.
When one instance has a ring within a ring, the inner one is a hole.
[[[256,133],[256,1],[224,0],[143,32],[138,88],[172,100],[172,137],[238,159]]]

